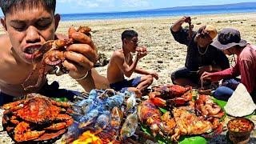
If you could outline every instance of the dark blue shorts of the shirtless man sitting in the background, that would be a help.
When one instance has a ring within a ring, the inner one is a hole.
[[[121,82],[115,82],[110,84],[110,88],[116,91],[126,91],[128,87],[136,87],[141,82],[142,77],[130,79],[129,81],[124,79]]]

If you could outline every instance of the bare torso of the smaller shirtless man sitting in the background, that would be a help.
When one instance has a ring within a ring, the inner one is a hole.
[[[114,54],[118,54],[118,53],[122,54],[122,58],[125,60],[124,62],[126,62],[126,64],[130,66],[130,64],[132,62],[132,55],[129,54],[128,56],[125,57],[122,49],[116,50],[114,52]],[[114,54],[110,58],[109,65],[107,67],[107,78],[108,78],[108,81],[110,82],[110,84],[115,83],[115,82],[121,82],[125,79],[122,70],[120,70],[120,68],[118,67],[118,64],[116,64],[117,59],[114,58]]]

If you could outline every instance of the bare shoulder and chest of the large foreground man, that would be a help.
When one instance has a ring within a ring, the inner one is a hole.
[[[0,36],[0,90],[1,93],[9,94],[13,96],[21,96],[24,94],[22,88],[22,82],[30,74],[30,71],[33,69],[31,64],[23,62],[10,44],[10,39],[7,35]],[[37,66],[40,67],[39,65]],[[34,85],[38,80],[38,68],[35,70],[35,73],[30,78],[30,81],[26,85]],[[42,83],[45,83],[46,79]],[[39,86],[38,90],[41,86]],[[37,90],[35,90],[37,91]]]

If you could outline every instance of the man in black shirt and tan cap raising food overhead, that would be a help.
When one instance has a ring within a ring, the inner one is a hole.
[[[230,64],[221,50],[210,45],[217,35],[214,26],[202,26],[196,32],[183,29],[184,22],[190,23],[190,17],[183,17],[170,27],[174,39],[187,46],[185,67],[174,71],[171,79],[174,84],[198,87],[203,72],[225,70]]]

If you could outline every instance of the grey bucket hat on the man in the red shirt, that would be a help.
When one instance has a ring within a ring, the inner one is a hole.
[[[225,28],[218,33],[218,37],[214,39],[210,45],[219,50],[226,50],[232,46],[246,46],[246,40],[241,39],[240,32],[233,28]]]

